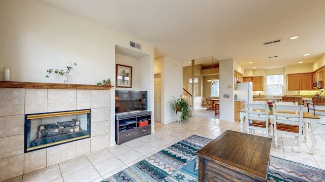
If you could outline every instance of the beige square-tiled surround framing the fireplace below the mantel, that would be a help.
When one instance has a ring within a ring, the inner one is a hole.
[[[110,90],[0,88],[0,181],[110,147]],[[91,108],[91,137],[24,154],[25,114]]]

